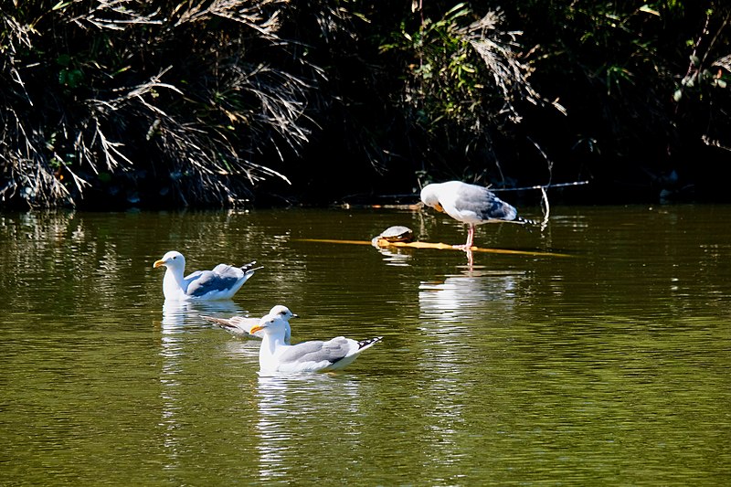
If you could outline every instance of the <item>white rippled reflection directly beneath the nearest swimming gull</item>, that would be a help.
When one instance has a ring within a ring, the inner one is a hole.
[[[257,392],[261,482],[291,476],[291,459],[303,461],[312,449],[348,449],[363,428],[360,384],[351,376],[260,374]]]

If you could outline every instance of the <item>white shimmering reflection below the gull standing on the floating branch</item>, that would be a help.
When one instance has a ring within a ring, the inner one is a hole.
[[[524,272],[495,271],[467,266],[440,281],[422,281],[418,288],[419,324],[423,352],[418,357],[424,383],[419,395],[426,402],[429,429],[435,442],[433,460],[459,457],[467,428],[466,395],[479,362],[488,360],[485,336],[493,316],[511,315],[517,307]]]

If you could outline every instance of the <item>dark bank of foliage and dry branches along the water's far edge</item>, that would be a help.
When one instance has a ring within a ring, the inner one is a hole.
[[[634,184],[715,175],[731,150],[721,0],[14,5],[4,204],[238,205],[290,181],[299,195],[448,176]]]

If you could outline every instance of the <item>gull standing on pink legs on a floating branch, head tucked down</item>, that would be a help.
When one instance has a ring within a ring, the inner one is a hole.
[[[467,242],[464,245],[455,245],[455,249],[472,248],[476,225],[494,222],[534,223],[518,217],[518,210],[514,206],[505,203],[486,187],[468,185],[461,181],[426,185],[421,190],[421,201],[424,205],[470,226]]]

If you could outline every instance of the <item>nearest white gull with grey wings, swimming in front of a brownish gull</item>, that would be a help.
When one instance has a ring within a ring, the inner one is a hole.
[[[376,336],[360,342],[338,336],[326,342],[313,340],[301,344],[285,344],[286,321],[277,315],[261,318],[249,333],[263,332],[259,349],[260,371],[270,372],[329,372],[350,365],[361,352],[380,342]]]

